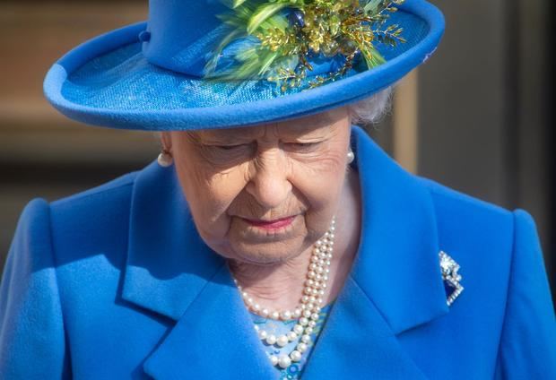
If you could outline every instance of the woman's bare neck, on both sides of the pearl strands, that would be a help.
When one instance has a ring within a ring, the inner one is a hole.
[[[340,202],[342,206],[336,214],[334,255],[323,307],[332,302],[343,288],[357,252],[361,229],[361,195],[357,172],[350,170],[346,175]],[[310,246],[291,260],[270,266],[230,260],[230,271],[261,306],[293,309],[300,303],[312,251],[313,246]]]

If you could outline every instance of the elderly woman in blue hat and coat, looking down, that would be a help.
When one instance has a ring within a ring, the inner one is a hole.
[[[439,10],[400,3],[152,0],[59,60],[56,108],[159,131],[161,155],[26,206],[0,377],[556,378],[531,216],[355,125],[439,43]]]

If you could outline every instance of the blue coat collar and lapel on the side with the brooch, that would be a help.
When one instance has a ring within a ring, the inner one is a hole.
[[[432,200],[364,131],[352,137],[360,246],[303,378],[424,379],[398,335],[448,312]]]

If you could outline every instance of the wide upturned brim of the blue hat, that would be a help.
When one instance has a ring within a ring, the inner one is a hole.
[[[406,0],[390,23],[406,43],[378,46],[383,65],[306,91],[283,94],[273,82],[207,82],[150,64],[139,22],[84,42],[47,73],[44,93],[66,117],[113,128],[169,131],[254,125],[308,116],[369,97],[421,65],[444,32],[442,13],[424,0]],[[310,79],[310,78],[308,78]]]

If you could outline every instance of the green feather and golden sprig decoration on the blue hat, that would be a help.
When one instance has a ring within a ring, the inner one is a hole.
[[[225,0],[222,0],[224,2]],[[229,1],[229,0],[227,0]],[[229,13],[217,17],[230,32],[213,49],[204,78],[218,81],[267,80],[282,91],[300,86],[313,68],[309,53],[326,57],[341,54],[342,67],[308,82],[314,88],[334,82],[354,65],[358,54],[370,69],[386,62],[375,42],[404,43],[398,25],[383,27],[396,5],[404,0],[233,0]],[[294,13],[293,15],[291,13]],[[296,20],[297,17],[297,20]],[[237,64],[216,71],[222,50],[236,39],[256,37],[256,42],[235,53]]]

